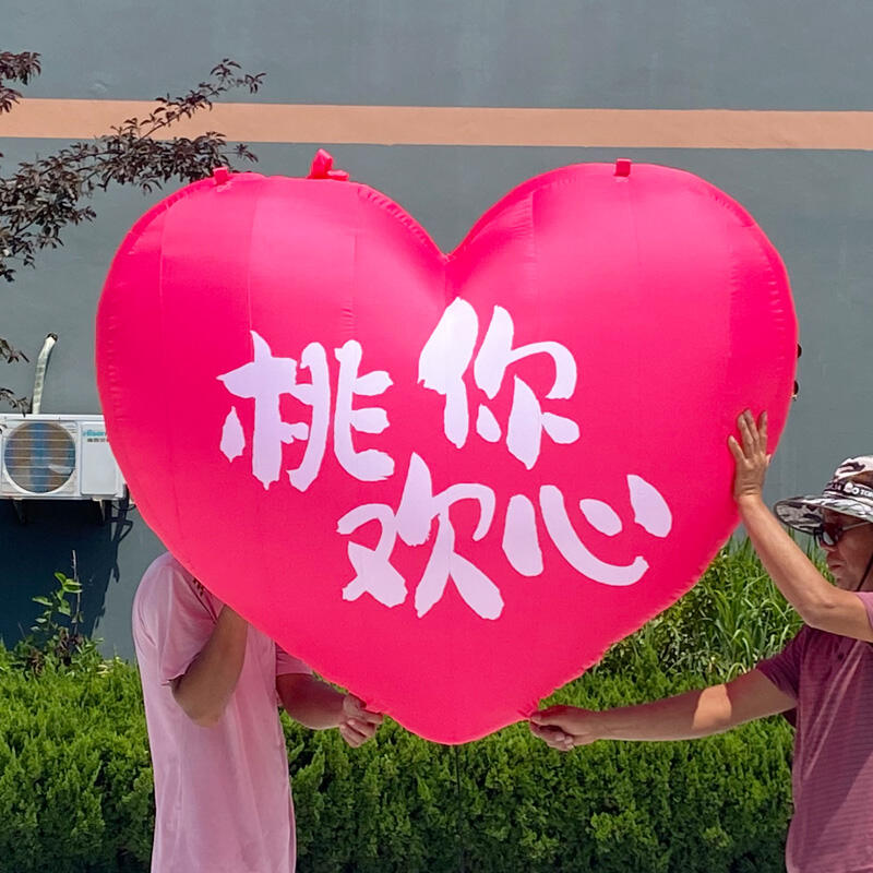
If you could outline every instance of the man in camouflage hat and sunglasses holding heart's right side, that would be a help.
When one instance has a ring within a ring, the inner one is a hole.
[[[873,455],[848,458],[822,494],[762,498],[767,421],[740,416],[733,495],[774,583],[804,626],[782,651],[731,682],[637,706],[553,706],[533,732],[569,751],[596,740],[684,740],[796,711],[788,873],[873,873]],[[814,536],[832,585],[779,521]]]

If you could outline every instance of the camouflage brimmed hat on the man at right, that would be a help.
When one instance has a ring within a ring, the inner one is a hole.
[[[815,534],[821,528],[824,510],[873,522],[873,487],[853,481],[861,473],[873,474],[873,455],[847,458],[821,494],[780,500],[774,512],[782,524],[804,534]]]

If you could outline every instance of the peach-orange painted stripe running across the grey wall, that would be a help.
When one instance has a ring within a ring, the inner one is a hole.
[[[0,139],[88,139],[148,100],[23,99]],[[873,112],[750,109],[542,109],[226,103],[170,135],[222,131],[231,141],[375,145],[873,150]]]

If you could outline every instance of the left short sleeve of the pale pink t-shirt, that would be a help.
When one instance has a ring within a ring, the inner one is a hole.
[[[217,615],[176,561],[153,566],[140,583],[133,624],[140,657],[154,659],[162,684],[184,675],[210,639]]]

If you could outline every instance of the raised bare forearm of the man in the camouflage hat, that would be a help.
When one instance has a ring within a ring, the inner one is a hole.
[[[834,587],[782,529],[760,495],[742,497],[737,505],[776,587],[808,624],[818,626],[835,600]]]

